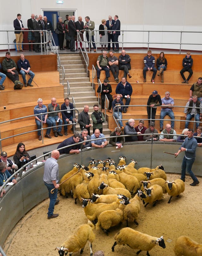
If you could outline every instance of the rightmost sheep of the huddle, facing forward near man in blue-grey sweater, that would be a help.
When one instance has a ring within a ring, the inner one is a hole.
[[[168,203],[170,203],[172,197],[178,197],[180,193],[184,192],[184,181],[182,181],[181,179],[176,179],[175,181],[168,181],[165,183],[167,184],[166,190],[170,196]]]

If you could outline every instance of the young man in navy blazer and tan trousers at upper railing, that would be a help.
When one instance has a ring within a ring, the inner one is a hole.
[[[22,24],[22,21],[21,21],[21,14],[18,13],[17,14],[17,18],[13,21],[13,26],[15,28],[15,30],[24,30],[24,26]],[[17,49],[17,52],[23,52],[22,50],[22,40],[23,40],[23,34],[24,32],[23,31],[15,31],[15,37],[16,37],[16,49]]]

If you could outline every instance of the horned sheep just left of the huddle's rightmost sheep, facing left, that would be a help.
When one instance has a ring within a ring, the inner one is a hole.
[[[156,205],[158,200],[161,200],[163,197],[163,189],[161,186],[154,184],[149,189],[144,189],[144,194],[147,196],[143,199],[143,204],[146,203],[145,207],[149,203],[154,203],[153,206]]]

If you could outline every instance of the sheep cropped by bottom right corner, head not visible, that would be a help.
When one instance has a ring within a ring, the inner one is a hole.
[[[176,256],[201,256],[202,244],[182,235],[176,239],[173,250]]]

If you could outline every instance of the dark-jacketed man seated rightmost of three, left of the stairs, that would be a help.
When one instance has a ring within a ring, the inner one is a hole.
[[[62,111],[62,120],[64,121],[64,124],[68,124],[69,121],[72,122],[72,132],[74,133],[75,131],[75,125],[73,124],[76,122],[76,118],[73,120],[73,110],[74,105],[69,102],[69,98],[64,98],[64,103],[61,105],[61,110],[67,110],[67,111]],[[67,125],[64,126],[64,135],[67,135]]]

